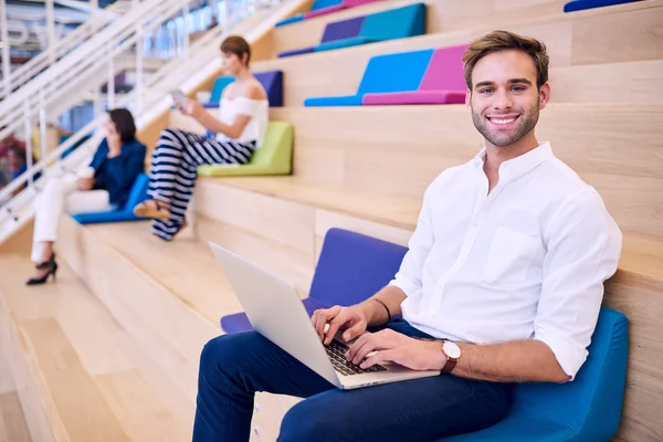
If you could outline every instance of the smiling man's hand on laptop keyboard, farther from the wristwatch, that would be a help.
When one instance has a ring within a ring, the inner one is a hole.
[[[311,318],[313,326],[320,340],[329,345],[336,332],[345,329],[343,340],[346,343],[362,335],[368,326],[368,317],[361,307],[354,305],[351,307],[341,307],[335,305],[330,308],[315,311]],[[329,324],[329,329],[325,334],[325,325]]]

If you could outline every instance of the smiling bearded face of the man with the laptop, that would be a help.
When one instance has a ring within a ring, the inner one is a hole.
[[[474,127],[494,146],[516,144],[529,134],[546,107],[550,86],[536,86],[536,66],[522,51],[502,51],[481,59],[472,71],[469,96]]]

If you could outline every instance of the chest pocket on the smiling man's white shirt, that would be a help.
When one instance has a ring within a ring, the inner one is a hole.
[[[488,249],[482,280],[490,284],[525,281],[540,241],[508,228],[497,228]]]

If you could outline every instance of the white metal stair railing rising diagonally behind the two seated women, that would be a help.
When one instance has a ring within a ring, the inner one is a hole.
[[[232,14],[222,14],[224,17],[223,20],[218,21],[218,24],[213,29],[192,43],[189,43],[188,35],[185,32],[185,38],[180,42],[181,48],[178,51],[180,56],[168,61],[149,76],[144,75],[145,73],[141,67],[143,38],[145,33],[172,20],[177,15],[185,14],[186,17],[190,2],[186,0],[148,0],[136,6],[129,11],[129,13],[137,14],[134,15],[136,20],[129,20],[128,24],[123,23],[118,27],[119,29],[114,33],[113,40],[105,40],[104,32],[109,32],[110,28],[115,27],[116,23],[113,23],[97,35],[98,39],[95,36],[93,38],[94,41],[85,43],[98,43],[99,45],[94,48],[94,51],[83,48],[81,53],[77,50],[72,52],[54,64],[49,70],[49,75],[43,75],[46,77],[45,80],[42,80],[42,75],[40,75],[30,82],[34,84],[34,86],[31,86],[34,91],[25,92],[30,84],[25,85],[22,88],[23,93],[19,94],[21,99],[14,98],[15,94],[12,94],[6,99],[6,102],[9,102],[7,106],[3,106],[4,102],[0,103],[0,124],[7,125],[7,128],[0,131],[0,139],[6,134],[15,131],[22,126],[25,133],[27,150],[31,152],[30,133],[34,124],[39,123],[42,140],[44,140],[49,107],[55,106],[66,99],[76,101],[83,94],[90,95],[90,84],[92,84],[92,90],[96,91],[97,103],[95,103],[95,109],[103,110],[104,107],[127,107],[131,109],[135,118],[138,120],[145,109],[149,109],[155,104],[164,102],[168,97],[169,91],[180,86],[197,72],[204,69],[206,65],[209,65],[210,57],[219,56],[219,43],[223,34],[232,25],[239,23],[257,9],[269,8],[277,2],[274,0],[224,0],[219,3],[225,11],[234,10],[235,12]],[[185,30],[186,28],[185,25]],[[116,96],[113,86],[115,76],[114,65],[119,57],[125,57],[127,53],[136,57],[136,84],[129,94]],[[88,57],[86,59],[86,56]],[[186,60],[186,63],[183,60]],[[102,82],[107,82],[108,85],[105,106],[98,103],[101,99],[98,86]],[[81,158],[80,156],[72,155],[65,160],[61,160],[60,158],[64,151],[83,139],[84,136],[95,133],[95,129],[104,122],[104,115],[102,114],[104,112],[99,112],[93,122],[51,152],[45,151],[45,143],[42,141],[40,160],[35,165],[31,164],[31,155],[27,156],[29,161],[28,170],[0,190],[0,206],[2,201],[6,201],[0,208],[0,225],[8,219],[14,218],[18,220],[17,213],[20,212],[27,201],[41,190],[41,183],[45,181],[45,178],[40,179],[35,183],[34,177],[38,173],[41,172],[42,177],[45,177],[51,171],[60,172],[77,166],[76,158]],[[98,135],[93,137],[88,143],[83,144],[76,149],[77,154],[84,155],[86,151],[96,148],[98,140]],[[27,197],[22,199],[11,198],[13,192],[23,187],[27,187],[23,193],[30,196],[28,199]],[[2,234],[0,232],[0,240],[1,238]]]

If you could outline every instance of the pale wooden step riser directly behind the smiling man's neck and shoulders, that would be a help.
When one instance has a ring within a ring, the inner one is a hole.
[[[420,199],[442,170],[483,144],[462,105],[283,107],[271,117],[295,126],[298,178],[360,193]],[[663,236],[661,120],[661,105],[551,104],[537,136],[601,193],[624,232]],[[200,130],[190,122],[171,114],[171,126]]]

